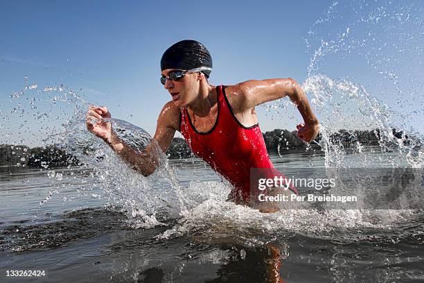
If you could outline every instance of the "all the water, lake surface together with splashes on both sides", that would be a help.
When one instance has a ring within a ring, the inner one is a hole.
[[[342,182],[321,193],[367,196],[355,209],[306,204],[261,214],[228,202],[228,183],[194,157],[161,155],[145,178],[87,132],[84,97],[25,76],[0,110],[0,143],[15,154],[20,144],[58,144],[80,164],[33,169],[23,154],[0,168],[1,281],[423,282],[423,10],[411,1],[335,2],[308,33],[302,87],[321,123],[321,150],[280,148],[272,160],[286,175],[324,169]],[[267,110],[294,108],[278,101]],[[150,140],[111,121],[134,148]],[[335,139],[338,130],[346,141]],[[412,171],[399,182],[376,185],[387,169],[405,168]]]

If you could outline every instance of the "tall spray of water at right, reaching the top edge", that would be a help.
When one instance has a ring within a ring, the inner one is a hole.
[[[327,171],[413,167],[418,187],[407,194],[421,194],[424,128],[416,121],[424,113],[423,11],[414,1],[335,2],[310,28],[310,65],[302,86],[321,123]],[[335,139],[335,132],[344,139]],[[378,144],[367,144],[371,137]],[[371,180],[367,173],[362,178]],[[378,188],[358,183],[337,191],[363,195],[367,189]],[[409,207],[401,197],[393,208],[399,205]],[[370,213],[384,222],[387,211],[360,212]]]

